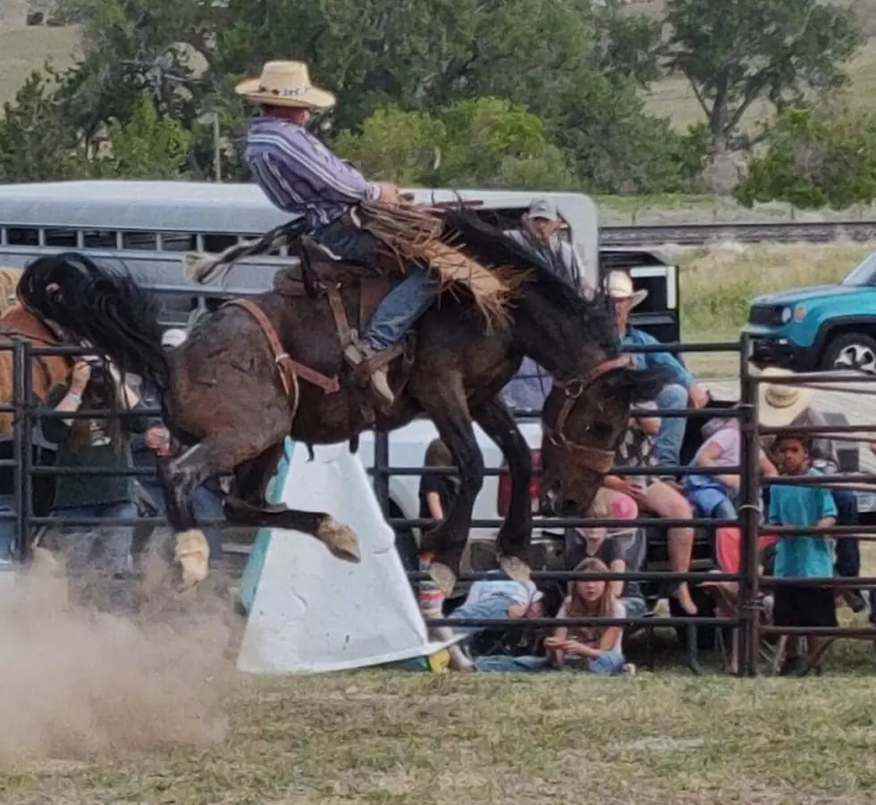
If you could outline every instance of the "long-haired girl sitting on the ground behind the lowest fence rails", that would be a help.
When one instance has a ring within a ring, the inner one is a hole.
[[[597,558],[585,559],[576,573],[604,574],[609,572]],[[624,605],[612,592],[611,584],[585,579],[569,582],[569,594],[563,601],[558,618],[611,617],[627,614]],[[582,667],[592,674],[635,674],[636,667],[624,658],[622,626],[558,626],[544,641],[548,658],[557,667]]]

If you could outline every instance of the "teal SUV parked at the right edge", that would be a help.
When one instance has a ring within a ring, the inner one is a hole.
[[[876,374],[876,252],[838,285],[754,298],[745,332],[761,367]]]

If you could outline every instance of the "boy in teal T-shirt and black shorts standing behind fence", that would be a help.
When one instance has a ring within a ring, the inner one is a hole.
[[[811,465],[812,446],[803,434],[786,434],[776,440],[782,475],[820,475]],[[777,485],[770,494],[768,522],[771,525],[825,528],[836,524],[837,506],[830,491],[820,486]],[[824,578],[833,574],[833,545],[826,534],[781,537],[776,546],[774,574],[777,578]],[[829,587],[778,585],[773,620],[777,626],[836,626],[837,610]],[[807,638],[808,658],[799,653],[796,635],[788,635],[787,658],[781,675],[802,675],[821,668],[827,642]]]

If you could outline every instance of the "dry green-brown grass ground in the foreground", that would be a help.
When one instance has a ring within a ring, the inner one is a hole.
[[[872,673],[872,647],[855,651]],[[870,675],[240,681],[215,744],[23,763],[4,805],[869,805]]]

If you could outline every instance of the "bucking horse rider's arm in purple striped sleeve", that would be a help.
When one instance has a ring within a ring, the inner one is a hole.
[[[261,127],[250,135],[248,146],[260,150],[281,174],[306,180],[326,201],[355,204],[383,196],[383,185],[366,180],[299,126]]]

